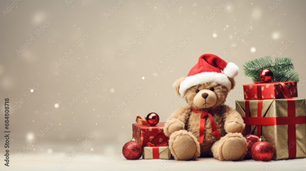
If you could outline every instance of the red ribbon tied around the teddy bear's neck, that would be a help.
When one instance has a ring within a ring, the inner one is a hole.
[[[200,111],[200,110],[196,110],[196,109],[192,109],[191,110],[195,113],[201,113],[201,121],[200,121],[200,136],[199,136],[199,143],[203,143],[203,139],[204,139],[204,131],[205,131],[205,117],[208,116],[210,122],[211,122],[211,129],[212,129],[212,133],[214,134],[215,138],[220,138],[220,133],[218,132],[214,117],[212,116],[212,114],[215,114],[219,111],[219,109],[215,109],[213,111]]]

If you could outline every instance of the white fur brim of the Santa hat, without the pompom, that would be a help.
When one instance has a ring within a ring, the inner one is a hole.
[[[216,82],[218,84],[224,85],[228,90],[232,88],[232,83],[225,74],[217,72],[202,72],[196,75],[188,76],[183,82],[181,82],[179,89],[181,97],[185,95],[185,92],[188,88],[206,82]]]

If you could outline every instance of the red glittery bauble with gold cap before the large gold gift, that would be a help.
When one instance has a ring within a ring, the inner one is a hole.
[[[256,161],[270,161],[274,155],[274,148],[261,136],[251,149],[252,158]]]

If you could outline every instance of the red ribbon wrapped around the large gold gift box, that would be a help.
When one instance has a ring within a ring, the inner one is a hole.
[[[287,89],[288,90],[288,89]],[[262,125],[288,125],[288,147],[293,142],[293,147],[289,147],[289,159],[296,158],[297,142],[296,142],[296,124],[306,124],[305,116],[296,116],[295,101],[287,98],[288,117],[261,117],[263,100],[258,100],[257,117],[250,117],[249,101],[245,101],[245,117],[243,117],[246,125],[257,125],[257,136],[261,136]],[[246,134],[250,134],[250,126],[246,127]]]

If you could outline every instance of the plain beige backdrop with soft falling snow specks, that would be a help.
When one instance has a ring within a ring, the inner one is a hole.
[[[289,56],[294,58],[301,80],[306,76],[304,1],[283,1],[279,5],[273,1],[178,1],[170,9],[170,0],[123,1],[107,19],[104,13],[118,1],[66,2],[21,1],[9,13],[4,15],[2,11],[0,15],[0,101],[3,104],[4,98],[9,98],[13,107],[24,99],[9,117],[12,151],[22,151],[37,138],[29,153],[71,152],[91,134],[94,138],[83,151],[120,155],[123,144],[132,138],[136,116],[156,112],[165,122],[173,112],[171,105],[185,105],[174,93],[172,83],[186,76],[203,53],[224,57],[240,67],[237,86],[228,96],[227,104],[232,107],[236,99],[243,99],[242,85],[251,83],[242,71],[247,60]],[[1,10],[12,4],[0,3]],[[276,8],[270,11],[273,4]],[[206,16],[214,12],[207,21]],[[51,22],[48,27],[42,27],[45,20]],[[153,26],[147,27],[143,36],[136,35],[147,24]],[[86,33],[89,38],[81,40]],[[247,35],[244,41],[243,34]],[[17,54],[16,49],[20,50],[31,36],[35,40]],[[185,36],[192,39],[178,52],[176,46]],[[286,45],[287,40],[291,44]],[[84,43],[76,46],[77,41]],[[118,52],[135,41],[119,58]],[[235,43],[235,49],[230,50]],[[279,48],[286,50],[279,53]],[[56,67],[55,62],[60,62],[69,49],[73,53]],[[167,61],[171,53],[175,56]],[[161,61],[168,63],[159,71]],[[103,76],[95,80],[100,72]],[[90,81],[96,81],[92,87],[88,86]],[[41,85],[34,89],[37,82]],[[141,90],[133,92],[138,85]],[[299,85],[299,97],[305,98],[305,82]],[[69,101],[83,89],[87,93],[70,107]],[[27,91],[31,95],[26,95]],[[129,94],[133,98],[129,99]],[[109,119],[107,115],[123,102],[125,106],[116,117]],[[3,116],[4,108],[1,110]],[[0,122],[4,131],[3,117]],[[46,127],[48,122],[54,123],[50,129]],[[40,130],[42,137],[37,134]],[[0,136],[4,142],[3,133]],[[71,148],[61,148],[62,144]]]

